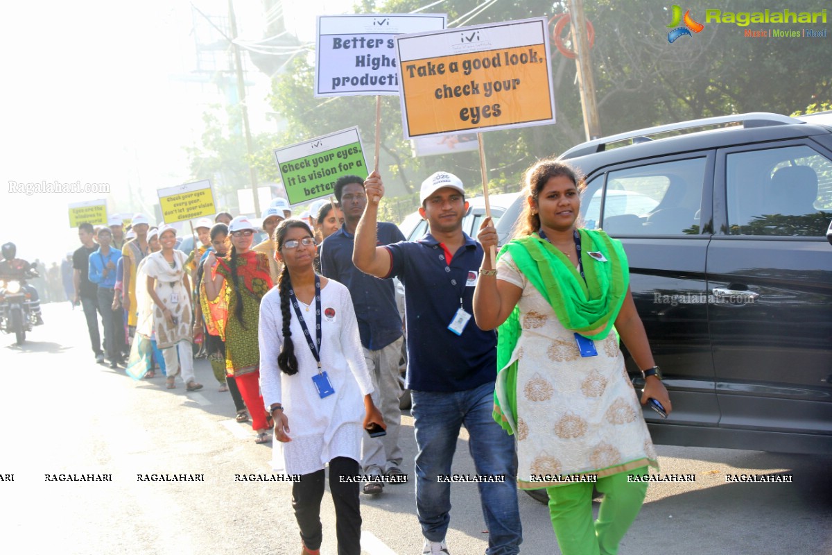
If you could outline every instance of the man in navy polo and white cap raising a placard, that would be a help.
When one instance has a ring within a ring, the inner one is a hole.
[[[473,321],[473,290],[483,248],[462,230],[468,211],[462,181],[445,171],[422,183],[419,214],[430,232],[414,242],[377,246],[379,199],[384,185],[374,171],[364,181],[369,198],[355,234],[353,261],[379,278],[399,277],[405,290],[408,387],[416,431],[416,513],[425,538],[423,553],[449,553],[453,451],[463,424],[480,475],[503,483],[480,483],[488,528],[487,555],[520,552],[522,530],[513,438],[492,418],[497,377],[497,337]]]

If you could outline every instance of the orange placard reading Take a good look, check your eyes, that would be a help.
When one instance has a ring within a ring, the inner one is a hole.
[[[544,18],[396,40],[406,138],[554,122]]]

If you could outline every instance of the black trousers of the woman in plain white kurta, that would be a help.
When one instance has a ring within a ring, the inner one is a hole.
[[[336,457],[329,461],[329,492],[335,505],[335,536],[338,555],[360,555],[361,510],[359,486],[342,483],[339,476],[356,476],[359,463],[352,458]],[[320,502],[324,498],[324,470],[303,474],[292,484],[292,508],[300,527],[300,539],[309,549],[319,549],[324,539],[320,523]]]

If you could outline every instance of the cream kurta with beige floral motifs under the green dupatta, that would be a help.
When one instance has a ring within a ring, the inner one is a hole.
[[[518,487],[556,485],[540,482],[546,474],[602,477],[657,466],[616,334],[595,341],[597,356],[582,357],[574,332],[557,320],[508,252],[497,268],[499,280],[522,289],[522,333],[508,362],[518,361]]]

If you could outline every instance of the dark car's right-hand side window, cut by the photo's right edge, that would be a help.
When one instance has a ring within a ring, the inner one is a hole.
[[[832,161],[809,146],[726,156],[731,235],[823,236],[832,217]]]

